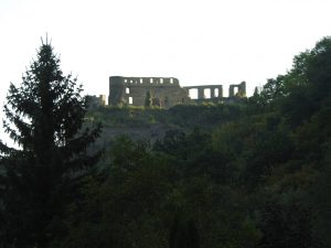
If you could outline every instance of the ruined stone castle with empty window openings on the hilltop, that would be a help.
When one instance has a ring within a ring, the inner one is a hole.
[[[223,97],[222,85],[203,85],[181,87],[174,77],[109,77],[108,104],[143,106],[147,94],[151,96],[153,105],[172,107],[178,104],[188,104],[190,90],[197,91],[195,100],[221,101]],[[246,83],[231,85],[228,98],[246,96]]]

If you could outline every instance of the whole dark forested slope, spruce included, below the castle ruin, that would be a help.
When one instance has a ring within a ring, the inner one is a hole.
[[[331,37],[241,103],[88,109],[81,93],[47,43],[10,86],[0,248],[331,247]]]

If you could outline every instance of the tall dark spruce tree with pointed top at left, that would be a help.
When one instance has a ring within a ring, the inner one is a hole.
[[[45,247],[73,185],[97,162],[100,152],[87,149],[100,126],[84,123],[82,90],[47,41],[21,85],[10,85],[3,128],[18,145],[0,142],[0,247]]]

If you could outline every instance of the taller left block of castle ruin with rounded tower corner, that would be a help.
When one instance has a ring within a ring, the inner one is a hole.
[[[111,106],[143,106],[148,93],[154,106],[172,107],[189,101],[188,91],[174,77],[109,77],[108,103]]]

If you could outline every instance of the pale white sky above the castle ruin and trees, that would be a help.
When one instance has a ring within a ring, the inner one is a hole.
[[[86,94],[108,95],[119,75],[223,84],[225,95],[246,80],[252,95],[330,35],[330,0],[0,0],[0,103],[46,33]]]

